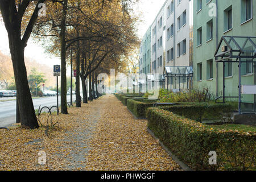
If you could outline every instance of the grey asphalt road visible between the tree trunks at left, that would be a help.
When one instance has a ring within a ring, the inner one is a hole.
[[[73,102],[76,100],[76,95],[73,95]],[[70,102],[70,96],[67,96],[67,101]],[[33,99],[34,108],[38,109],[43,106],[56,106],[57,97],[43,97]],[[60,97],[59,97],[60,105]],[[0,102],[0,127],[6,127],[16,122],[16,101]]]

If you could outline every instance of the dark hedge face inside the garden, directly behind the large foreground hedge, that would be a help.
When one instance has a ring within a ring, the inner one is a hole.
[[[220,122],[232,121],[233,106],[230,104],[184,104],[174,106],[161,106],[161,109],[171,111],[186,118],[203,122],[204,119],[218,120]]]

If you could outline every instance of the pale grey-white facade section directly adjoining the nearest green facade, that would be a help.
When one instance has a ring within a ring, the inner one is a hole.
[[[174,6],[173,11],[171,6]],[[168,66],[189,66],[189,0],[168,0],[166,9],[171,13],[166,21],[166,30],[173,26],[173,35],[166,39],[166,65]],[[168,31],[166,31],[168,34]],[[173,56],[172,56],[173,50]],[[168,53],[169,51],[169,53]]]

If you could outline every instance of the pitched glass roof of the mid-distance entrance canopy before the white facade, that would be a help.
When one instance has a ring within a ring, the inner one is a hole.
[[[193,68],[192,67],[165,67],[164,77],[192,77]]]

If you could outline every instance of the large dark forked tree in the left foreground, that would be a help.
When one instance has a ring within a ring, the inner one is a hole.
[[[28,86],[27,72],[24,63],[24,48],[27,46],[32,28],[38,18],[39,4],[44,1],[46,0],[33,1],[33,4],[36,6],[32,6],[32,1],[30,0],[0,1],[0,10],[9,37],[20,120],[22,126],[30,129],[38,128],[39,125],[35,115],[30,88]],[[25,23],[26,26],[24,26],[24,32],[22,32],[22,20],[25,13],[30,14],[30,19]]]

